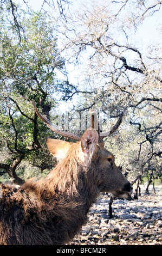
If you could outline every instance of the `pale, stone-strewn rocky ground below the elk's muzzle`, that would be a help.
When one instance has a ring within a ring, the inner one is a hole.
[[[101,194],[89,220],[70,245],[162,245],[162,193],[138,200],[115,199],[108,216],[110,195]]]

